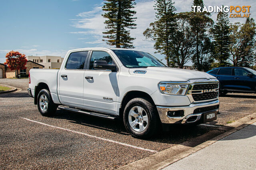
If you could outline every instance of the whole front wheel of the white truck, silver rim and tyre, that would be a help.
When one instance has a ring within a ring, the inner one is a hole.
[[[158,116],[154,105],[147,98],[134,98],[124,108],[126,130],[138,138],[149,138],[158,130]]]

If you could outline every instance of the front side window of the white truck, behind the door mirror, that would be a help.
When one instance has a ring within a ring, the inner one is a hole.
[[[92,52],[89,70],[94,70],[94,68],[93,68],[94,61],[106,61],[108,64],[115,65],[115,63],[114,63],[113,59],[110,57],[110,55],[104,51],[93,51]]]

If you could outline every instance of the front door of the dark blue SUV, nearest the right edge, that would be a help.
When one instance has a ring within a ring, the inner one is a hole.
[[[235,90],[254,91],[255,79],[247,76],[249,72],[242,68],[234,68],[234,84]]]

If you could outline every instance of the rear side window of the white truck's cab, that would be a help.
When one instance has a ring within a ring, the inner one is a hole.
[[[84,63],[87,55],[88,55],[88,51],[71,53],[66,63],[66,69],[78,69],[78,70],[84,69]]]

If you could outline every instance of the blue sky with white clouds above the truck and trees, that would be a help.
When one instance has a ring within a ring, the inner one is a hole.
[[[191,10],[193,0],[174,0],[176,12]],[[131,30],[137,50],[147,51],[159,59],[154,42],[145,41],[143,31],[155,21],[154,0],[136,0],[137,28]],[[255,0],[204,0],[206,6],[251,6],[250,17],[256,19]],[[25,55],[64,57],[70,49],[110,47],[102,41],[105,19],[101,16],[103,0],[1,0],[0,63],[11,50]],[[216,21],[217,13],[211,13]],[[230,18],[244,23],[245,18]],[[163,60],[164,61],[164,60]],[[189,62],[186,65],[191,65]]]

